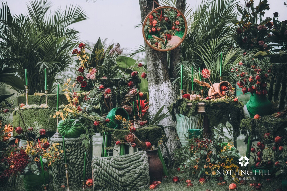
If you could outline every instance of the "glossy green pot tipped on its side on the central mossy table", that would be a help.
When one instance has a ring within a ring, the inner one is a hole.
[[[124,108],[113,108],[106,117],[106,119],[110,119],[110,122],[107,123],[109,128],[119,129],[121,127],[121,121],[116,120],[116,115],[120,115],[126,120],[129,120],[129,114]]]

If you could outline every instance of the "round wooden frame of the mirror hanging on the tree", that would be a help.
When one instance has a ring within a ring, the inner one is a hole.
[[[150,43],[148,43],[148,40],[146,40],[146,36],[145,36],[145,34],[144,34],[144,25],[146,24],[146,22],[147,22],[147,20],[148,20],[148,16],[149,16],[152,12],[154,12],[154,11],[156,11],[156,10],[158,10],[158,9],[163,9],[163,8],[170,8],[170,9],[174,9],[174,10],[178,11],[178,12],[181,14],[181,16],[183,17],[184,23],[185,23],[185,31],[184,31],[184,34],[183,34],[183,37],[182,37],[181,41],[180,41],[176,46],[174,46],[174,47],[172,47],[172,48],[168,48],[168,49],[158,49],[158,48],[153,47]],[[185,36],[186,36],[186,34],[187,34],[187,22],[186,22],[185,16],[183,15],[183,13],[182,13],[179,9],[174,8],[174,7],[170,7],[170,6],[161,6],[161,7],[157,7],[157,8],[155,8],[155,9],[153,9],[152,11],[150,11],[150,12],[146,15],[146,18],[144,19],[143,27],[142,27],[142,28],[143,28],[143,29],[142,29],[142,33],[143,33],[144,41],[146,42],[146,44],[148,44],[148,46],[150,46],[152,49],[158,50],[158,51],[161,51],[161,52],[166,52],[166,51],[169,51],[169,50],[173,50],[174,48],[177,48],[177,47],[183,42],[183,40],[184,40],[184,38],[185,38]]]

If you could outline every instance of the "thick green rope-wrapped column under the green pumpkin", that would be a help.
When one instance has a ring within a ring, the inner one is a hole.
[[[90,147],[86,149],[82,145],[84,138],[71,138],[65,139],[66,156],[68,163],[69,172],[69,185],[70,186],[82,186],[82,177],[84,172],[84,153],[86,152],[86,179],[92,178],[92,156],[90,152]],[[63,150],[63,139],[51,137],[52,143],[57,144],[59,149],[60,159],[55,165],[53,165],[53,182],[58,185],[67,184],[65,167],[64,167],[64,155],[61,153]]]

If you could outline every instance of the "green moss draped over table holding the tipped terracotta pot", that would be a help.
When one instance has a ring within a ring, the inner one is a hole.
[[[225,99],[190,101],[184,98],[172,103],[168,110],[173,120],[176,120],[176,114],[187,117],[195,116],[197,115],[197,104],[202,102],[205,103],[205,114],[208,116],[211,126],[229,122],[233,127],[233,135],[236,137],[240,135],[240,121],[244,118],[244,104],[242,102]],[[192,106],[187,106],[187,103],[192,103]]]

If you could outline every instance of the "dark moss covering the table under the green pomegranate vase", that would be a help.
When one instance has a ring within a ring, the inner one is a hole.
[[[251,139],[258,138],[258,140],[263,140],[264,134],[267,132],[273,136],[282,136],[287,133],[286,126],[286,118],[276,118],[266,115],[259,119],[245,117],[241,120],[240,130],[245,135],[244,142],[247,144],[249,135]]]

